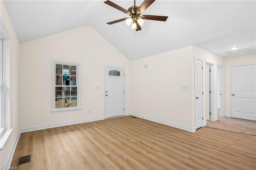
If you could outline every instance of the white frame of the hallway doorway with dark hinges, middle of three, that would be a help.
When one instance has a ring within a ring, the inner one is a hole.
[[[206,68],[206,65],[210,65],[211,66],[211,84],[210,84],[210,86],[211,86],[211,91],[212,91],[212,93],[211,93],[211,113],[212,113],[212,115],[211,115],[211,121],[216,121],[217,120],[217,116],[216,116],[216,108],[215,108],[215,99],[216,99],[216,95],[215,95],[215,93],[217,93],[215,90],[214,90],[214,83],[215,83],[215,81],[214,81],[214,76],[215,76],[215,74],[214,74],[214,63],[212,63],[212,62],[210,62],[210,61],[205,61],[205,68]],[[207,80],[206,80],[206,74],[208,74],[209,73],[209,71],[208,71],[208,69],[204,69],[204,73],[205,73],[205,89],[206,89],[206,85],[207,85]],[[205,96],[204,96],[204,99],[205,99],[205,118],[206,118],[206,114],[209,114],[209,113],[206,113],[206,105],[207,105],[207,102],[208,102],[208,100],[206,99],[206,94],[207,93],[209,93],[209,91],[205,91]]]

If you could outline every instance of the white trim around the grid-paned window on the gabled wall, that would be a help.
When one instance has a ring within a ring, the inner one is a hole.
[[[77,85],[77,107],[67,107],[67,108],[55,108],[55,64],[66,64],[66,65],[77,65],[76,73],[77,73],[77,79],[76,85]],[[60,113],[60,112],[68,112],[68,111],[77,111],[80,110],[81,104],[80,104],[80,63],[77,62],[71,62],[71,61],[59,61],[59,60],[52,60],[52,113]]]

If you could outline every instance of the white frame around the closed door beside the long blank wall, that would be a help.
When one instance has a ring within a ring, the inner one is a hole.
[[[203,69],[202,69],[202,91],[203,91],[203,92],[204,92],[204,86],[205,86],[205,85],[204,85],[204,81],[205,81],[205,80],[204,80],[204,77],[205,77],[205,76],[204,76],[204,69],[205,69],[204,59],[200,59],[200,58],[194,57],[194,95],[193,95],[193,99],[194,99],[194,100],[193,100],[193,101],[194,101],[194,129],[195,129],[195,130],[196,130],[196,107],[195,107],[195,106],[196,106],[196,100],[195,100],[195,99],[196,99],[196,95],[195,95],[195,91],[196,91],[196,86],[195,86],[195,74],[196,74],[196,73],[195,73],[195,60],[196,60],[196,59],[202,61],[202,66],[203,66]],[[203,115],[203,119],[204,119],[204,120],[202,120],[202,121],[203,121],[203,123],[202,123],[203,126],[202,126],[202,127],[204,127],[204,126],[206,126],[205,110],[204,110],[204,108],[205,108],[205,107],[204,107],[204,103],[205,103],[205,99],[204,99],[205,97],[204,97],[204,96],[205,96],[205,95],[203,94],[202,96],[203,96],[203,97],[202,97],[202,112],[203,112],[202,115]]]

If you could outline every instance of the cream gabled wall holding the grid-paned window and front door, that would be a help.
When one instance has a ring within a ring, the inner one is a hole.
[[[80,62],[82,110],[50,112],[52,59]],[[19,64],[20,128],[104,117],[104,65],[124,67],[126,112],[130,112],[130,61],[92,28],[84,26],[22,43]]]

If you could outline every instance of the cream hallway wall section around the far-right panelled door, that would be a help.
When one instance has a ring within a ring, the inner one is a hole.
[[[231,117],[230,111],[230,70],[232,66],[238,65],[249,65],[256,64],[256,55],[245,55],[240,57],[231,57],[224,59],[224,103],[225,103],[225,112],[226,117]]]

